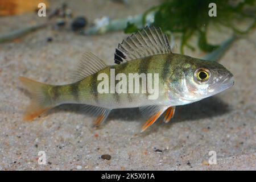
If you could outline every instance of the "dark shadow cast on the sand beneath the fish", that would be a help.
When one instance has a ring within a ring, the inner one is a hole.
[[[203,118],[212,118],[219,115],[223,115],[228,113],[232,108],[220,100],[218,97],[209,97],[201,100],[199,102],[195,102],[188,105],[177,106],[174,118],[172,118],[171,123],[183,122],[183,121],[196,121],[198,119]],[[92,116],[92,113],[88,113],[86,109],[84,109],[84,105],[79,104],[64,104],[53,108],[48,111],[48,114],[56,113],[56,112],[64,112],[71,111],[73,113],[82,114],[86,116]],[[162,118],[165,114],[158,119],[157,123],[162,123]],[[145,121],[142,114],[140,113],[138,108],[126,108],[126,109],[114,109],[109,114],[109,120],[122,120],[125,122],[134,122],[138,121],[142,124]],[[159,124],[156,124],[159,125]],[[164,125],[167,126],[167,125]],[[168,125],[170,126],[170,125]]]

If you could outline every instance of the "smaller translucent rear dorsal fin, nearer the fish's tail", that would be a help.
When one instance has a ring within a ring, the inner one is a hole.
[[[77,65],[76,72],[72,76],[73,80],[80,81],[106,67],[107,65],[93,53],[85,52]]]

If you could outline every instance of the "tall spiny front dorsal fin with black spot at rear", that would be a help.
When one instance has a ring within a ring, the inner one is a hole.
[[[147,56],[171,53],[167,35],[161,28],[146,27],[128,36],[115,49],[114,60],[116,64]]]

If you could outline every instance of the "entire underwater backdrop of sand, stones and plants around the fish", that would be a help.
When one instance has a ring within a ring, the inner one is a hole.
[[[38,16],[40,2],[46,17]],[[216,17],[208,14],[210,2]],[[255,1],[1,0],[0,169],[255,170],[255,10]],[[214,57],[233,73],[233,88],[176,107],[170,123],[144,133],[138,109],[112,111],[97,130],[76,105],[23,121],[29,100],[19,76],[67,84],[82,53],[112,65],[118,43],[146,24],[168,32],[173,52],[202,59],[234,37]],[[209,151],[217,164],[209,164]]]

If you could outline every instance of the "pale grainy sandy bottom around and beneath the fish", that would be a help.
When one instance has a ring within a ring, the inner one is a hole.
[[[85,14],[92,22],[104,15],[139,14],[152,5],[151,1],[141,1],[141,6],[136,2],[124,6],[112,1],[78,1],[70,6],[75,15]],[[53,7],[58,4],[52,2]],[[35,21],[43,19],[36,15],[1,18],[5,26],[0,26],[0,32]],[[49,36],[52,42],[46,41]],[[29,99],[19,76],[49,84],[68,83],[84,51],[113,64],[114,48],[125,37],[122,32],[88,37],[45,28],[18,42],[0,44],[0,169],[255,170],[256,31],[235,42],[220,61],[234,75],[232,89],[177,107],[172,122],[159,121],[145,133],[139,133],[144,119],[138,109],[112,111],[97,130],[92,128],[92,118],[73,105],[53,109],[34,122],[22,120]],[[46,152],[46,165],[38,164],[39,151]],[[216,152],[216,165],[208,164],[209,151]],[[111,159],[102,159],[104,154]]]

